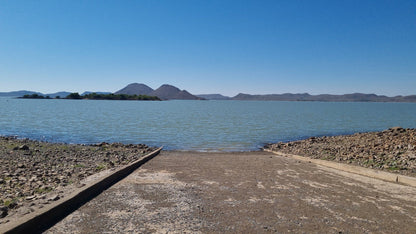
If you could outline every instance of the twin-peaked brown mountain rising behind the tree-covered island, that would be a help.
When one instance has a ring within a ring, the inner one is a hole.
[[[175,86],[164,84],[158,89],[154,90],[145,84],[133,83],[129,84],[123,89],[115,92],[115,94],[128,94],[128,95],[147,95],[157,96],[162,100],[201,100],[202,98],[190,94],[186,90],[180,90]]]

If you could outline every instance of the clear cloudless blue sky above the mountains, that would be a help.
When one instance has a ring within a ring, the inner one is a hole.
[[[0,1],[0,92],[416,94],[416,1]]]

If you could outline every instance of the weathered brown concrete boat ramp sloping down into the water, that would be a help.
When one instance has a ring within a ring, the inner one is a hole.
[[[49,233],[416,233],[416,188],[266,152],[162,152]]]

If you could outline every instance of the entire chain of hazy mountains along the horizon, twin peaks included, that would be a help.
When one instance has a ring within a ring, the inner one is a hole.
[[[92,93],[90,91],[84,92],[84,94]],[[100,94],[109,94],[110,92],[96,92]],[[54,98],[56,96],[66,97],[69,92],[58,92],[51,94],[42,94],[33,91],[14,91],[14,92],[0,92],[1,96],[9,97],[21,97],[26,94],[39,94],[43,96],[50,96]],[[319,94],[310,95],[308,93],[284,93],[284,94],[266,94],[266,95],[251,95],[239,93],[234,97],[227,97],[221,94],[200,94],[193,95],[186,90],[180,90],[179,88],[164,84],[156,90],[145,84],[132,83],[126,87],[118,90],[115,94],[128,94],[128,95],[147,95],[157,96],[162,100],[250,100],[250,101],[322,101],[322,102],[416,102],[416,95],[409,96],[395,96],[388,97],[384,95],[376,94],[363,94],[352,93],[343,95],[334,94]]]

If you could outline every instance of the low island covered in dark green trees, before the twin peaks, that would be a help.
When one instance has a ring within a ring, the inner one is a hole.
[[[26,94],[23,97],[25,99],[61,99],[60,96],[51,98],[50,96],[43,96],[39,94]],[[79,93],[71,93],[65,98],[62,99],[88,99],[88,100],[134,100],[134,101],[161,101],[157,96],[148,96],[148,95],[128,95],[128,94],[98,94],[90,93],[85,95],[80,95]]]

